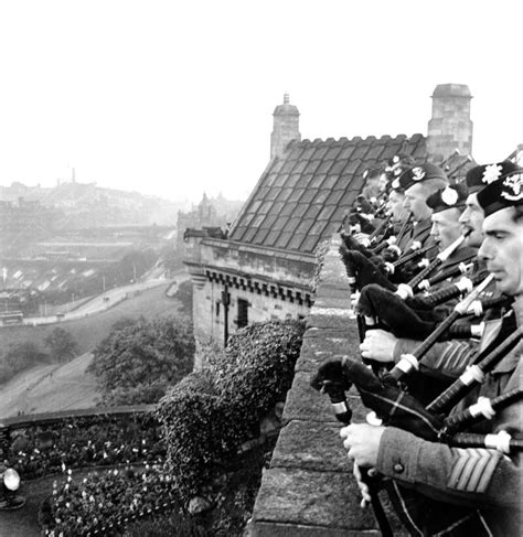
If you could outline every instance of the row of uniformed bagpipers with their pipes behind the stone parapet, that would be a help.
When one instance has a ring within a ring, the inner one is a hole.
[[[523,169],[397,155],[366,180],[341,247],[361,359],[313,380],[373,410],[341,429],[363,501],[385,488],[410,535],[523,535]]]

